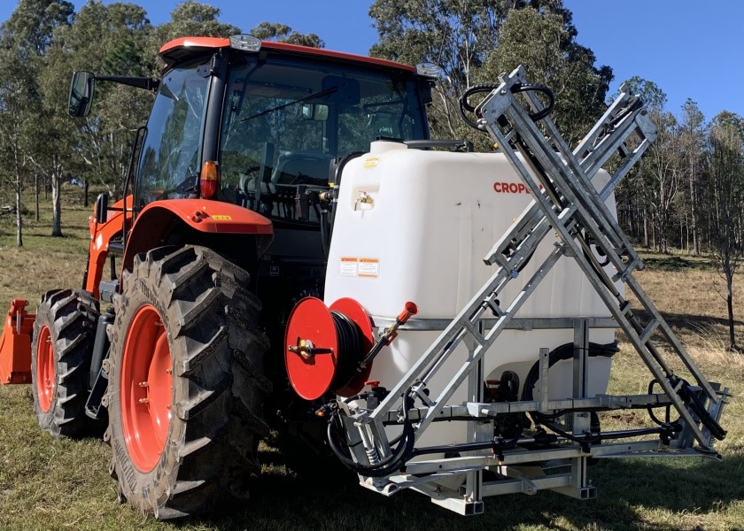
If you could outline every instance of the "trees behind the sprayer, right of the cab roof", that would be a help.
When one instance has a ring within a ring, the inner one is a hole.
[[[492,84],[517,65],[553,89],[555,124],[574,145],[612,99],[611,67],[595,65],[592,50],[577,42],[562,0],[376,0],[369,15],[380,37],[373,54],[444,69],[430,110],[437,137],[465,137],[488,150],[488,139],[459,119],[457,102],[465,89]],[[715,258],[730,346],[738,350],[732,281],[744,257],[744,118],[722,111],[706,122],[689,99],[667,110],[653,81],[633,77],[624,86],[643,97],[658,137],[616,190],[619,221],[648,248]]]

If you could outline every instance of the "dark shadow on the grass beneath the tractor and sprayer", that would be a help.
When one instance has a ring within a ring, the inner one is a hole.
[[[252,498],[224,507],[219,517],[190,525],[219,529],[700,529],[683,525],[694,512],[725,511],[744,499],[744,458],[724,463],[700,459],[608,459],[590,469],[598,498],[579,501],[554,492],[486,498],[484,514],[465,518],[407,490],[391,497],[362,488],[337,462],[314,462],[317,473],[286,473],[283,457],[265,454],[265,472],[253,481]],[[664,518],[649,518],[661,511]]]

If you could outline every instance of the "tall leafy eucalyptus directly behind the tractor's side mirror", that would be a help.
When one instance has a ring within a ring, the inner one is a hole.
[[[54,95],[60,119],[68,124],[69,168],[88,185],[103,185],[119,196],[125,180],[134,132],[147,118],[151,97],[111,83],[97,83],[94,111],[82,119],[66,116],[71,73],[87,70],[104,75],[139,76],[157,70],[148,53],[151,24],[136,4],[89,2],[71,27],[55,34],[48,54],[45,87]]]

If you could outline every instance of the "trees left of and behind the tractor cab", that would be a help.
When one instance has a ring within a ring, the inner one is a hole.
[[[50,193],[51,235],[62,235],[60,185],[74,178],[120,196],[138,127],[146,121],[152,95],[103,83],[86,119],[67,114],[70,78],[76,70],[100,75],[159,77],[163,43],[185,35],[229,36],[241,28],[222,23],[220,10],[187,1],[171,19],[152,25],[136,4],[89,0],[79,12],[67,0],[19,0],[0,25],[0,206],[15,212],[16,242],[23,246],[24,190]],[[322,47],[314,34],[281,23],[260,22],[248,33],[263,39]]]

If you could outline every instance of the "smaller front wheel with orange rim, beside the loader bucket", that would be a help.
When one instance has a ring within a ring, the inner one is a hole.
[[[36,310],[31,346],[34,411],[39,427],[56,437],[100,435],[85,414],[98,301],[77,289],[50,291]]]

